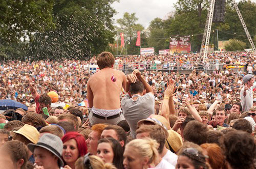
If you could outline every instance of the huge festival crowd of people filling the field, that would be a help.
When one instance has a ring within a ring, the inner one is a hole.
[[[28,107],[0,114],[0,168],[256,168],[254,53],[201,63],[199,54],[102,52],[0,69],[1,100]]]

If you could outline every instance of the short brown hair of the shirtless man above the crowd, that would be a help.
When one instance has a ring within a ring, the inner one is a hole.
[[[103,51],[96,58],[96,61],[99,69],[101,70],[103,68],[111,68],[115,63],[115,58],[111,52]]]

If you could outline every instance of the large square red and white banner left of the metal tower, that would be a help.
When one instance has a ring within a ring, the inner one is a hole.
[[[171,54],[189,53],[191,51],[189,37],[170,38],[169,50]]]

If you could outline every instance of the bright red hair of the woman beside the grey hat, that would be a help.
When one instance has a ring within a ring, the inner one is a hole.
[[[65,143],[70,139],[76,140],[77,148],[79,151],[79,157],[87,154],[86,140],[84,139],[84,137],[81,134],[79,134],[77,132],[68,132],[67,134],[65,134],[62,137],[62,142]]]

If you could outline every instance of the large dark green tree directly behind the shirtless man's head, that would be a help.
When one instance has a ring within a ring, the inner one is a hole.
[[[34,36],[30,58],[90,59],[114,41],[114,1],[59,0],[53,6],[56,29]]]

